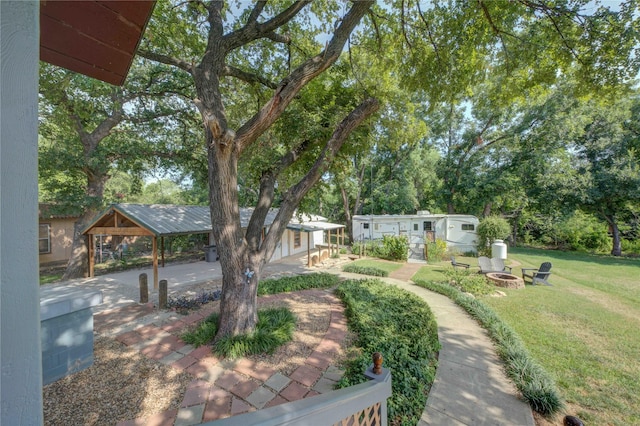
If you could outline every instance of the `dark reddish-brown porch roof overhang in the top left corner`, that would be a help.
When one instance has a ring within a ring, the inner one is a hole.
[[[40,1],[40,59],[124,83],[155,0]]]

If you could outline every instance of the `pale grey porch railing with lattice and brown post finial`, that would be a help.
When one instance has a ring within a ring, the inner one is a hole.
[[[376,352],[374,364],[364,373],[370,379],[366,383],[204,424],[386,426],[391,373],[381,363],[382,357]]]

